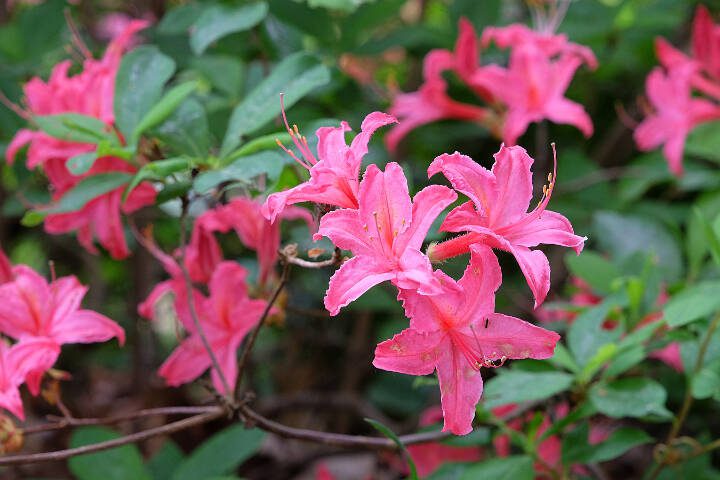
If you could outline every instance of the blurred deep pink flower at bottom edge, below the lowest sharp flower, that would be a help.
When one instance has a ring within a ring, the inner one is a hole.
[[[442,407],[431,407],[420,416],[420,425],[432,425],[442,418]],[[431,475],[445,463],[476,462],[483,457],[483,452],[478,447],[452,447],[440,442],[410,445],[408,453],[415,462],[417,473],[421,478]]]

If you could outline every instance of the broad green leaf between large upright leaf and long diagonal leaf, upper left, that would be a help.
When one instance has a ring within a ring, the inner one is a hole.
[[[152,134],[181,155],[206,157],[210,150],[210,129],[205,109],[192,97],[186,99]]]

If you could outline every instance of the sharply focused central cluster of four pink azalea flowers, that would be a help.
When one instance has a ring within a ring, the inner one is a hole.
[[[349,146],[346,124],[321,128],[317,156],[288,126],[310,179],[270,195],[263,211],[274,219],[291,203],[338,207],[322,216],[314,238],[326,236],[353,257],[330,279],[325,307],[336,315],[374,285],[390,281],[410,325],[377,346],[373,364],[410,375],[437,371],[444,430],[463,435],[472,430],[482,395],[480,369],[498,367],[507,359],[548,358],[559,339],[554,332],[495,313],[502,276],[492,248],[515,255],[540,304],[549,288],[550,267],[545,255],[531,247],[552,243],[579,252],[585,239],[573,233],[565,217],[546,210],[552,181],[537,208],[527,212],[533,160],[521,147],[502,146],[492,171],[459,153],[441,155],[430,164],[429,176],[443,173],[470,199],[448,214],[442,229],[469,233],[431,245],[426,255],[421,248],[427,232],[457,193],[431,185],[411,199],[402,167],[394,162],[384,171],[371,164],[359,178],[369,133],[392,122],[389,115],[371,113]],[[470,261],[459,281],[431,265],[431,260],[461,253],[470,253]]]

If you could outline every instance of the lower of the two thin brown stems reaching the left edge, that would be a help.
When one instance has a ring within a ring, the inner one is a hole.
[[[24,463],[40,463],[40,462],[56,462],[60,460],[66,460],[71,457],[83,455],[86,453],[99,452],[102,450],[108,450],[110,448],[120,447],[122,445],[128,445],[130,443],[137,443],[148,438],[157,437],[159,435],[169,435],[171,433],[186,430],[196,425],[202,425],[203,423],[216,420],[225,415],[225,410],[221,407],[215,407],[211,412],[195,415],[190,418],[178,420],[177,422],[169,423],[161,427],[150,428],[142,432],[133,433],[124,437],[115,438],[106,442],[95,443],[92,445],[85,445],[83,447],[68,448],[66,450],[58,450],[55,452],[44,452],[44,453],[32,453],[29,455],[11,455],[7,457],[0,457],[0,467],[7,465],[18,465]]]

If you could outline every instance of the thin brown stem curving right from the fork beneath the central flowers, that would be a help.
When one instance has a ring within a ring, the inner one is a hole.
[[[340,433],[319,432],[316,430],[306,430],[304,428],[288,427],[287,425],[283,425],[263,417],[247,405],[240,405],[238,410],[246,422],[284,438],[305,440],[323,445],[345,448],[366,448],[370,450],[397,450],[398,448],[395,442],[389,438],[367,437],[363,435],[343,435]],[[442,431],[422,432],[413,433],[411,435],[402,435],[400,436],[400,441],[404,445],[413,445],[417,443],[435,442],[448,436],[450,436],[449,433]]]

